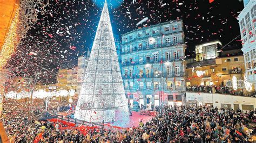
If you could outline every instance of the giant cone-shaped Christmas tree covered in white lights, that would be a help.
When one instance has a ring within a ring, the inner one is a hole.
[[[117,114],[118,113],[118,114]],[[105,1],[79,93],[75,118],[93,123],[128,116],[127,100]]]

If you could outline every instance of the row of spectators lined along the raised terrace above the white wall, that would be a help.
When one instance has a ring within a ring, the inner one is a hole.
[[[244,96],[242,90],[234,91],[232,88],[227,86],[217,86],[217,85],[188,85],[186,91],[192,92],[208,92],[208,93],[218,93],[218,94],[230,94],[230,95],[239,95]]]

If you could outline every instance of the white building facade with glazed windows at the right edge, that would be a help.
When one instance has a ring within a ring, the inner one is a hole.
[[[254,84],[256,88],[256,0],[244,1],[245,8],[238,16],[241,40],[242,40],[242,52],[244,52],[246,76],[248,82]]]

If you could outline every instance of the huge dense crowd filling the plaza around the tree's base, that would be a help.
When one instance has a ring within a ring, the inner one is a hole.
[[[7,99],[2,121],[10,142],[253,142],[255,111],[243,112],[212,106],[165,106],[145,124],[126,130],[61,130],[61,123],[29,118],[29,104]],[[42,112],[44,103],[34,101],[33,110]],[[35,114],[35,112],[33,112]],[[253,126],[254,125],[254,126]],[[79,125],[78,125],[79,126]]]

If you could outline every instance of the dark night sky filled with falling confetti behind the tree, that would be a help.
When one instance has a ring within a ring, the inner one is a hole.
[[[186,55],[191,55],[194,46],[202,42],[219,39],[226,45],[237,37],[237,16],[243,8],[238,0],[215,0],[211,4],[206,0],[136,0],[134,4],[125,0],[116,9],[110,7],[110,17],[117,35],[138,28],[136,24],[145,17],[149,18],[143,23],[147,26],[183,19]],[[56,81],[59,68],[73,67],[78,56],[91,48],[102,8],[91,1],[76,0],[51,1],[45,11],[38,10],[41,12],[37,23],[22,39],[6,67],[13,76],[33,76],[41,70],[39,82],[50,84]],[[241,48],[240,41],[234,40],[231,45]],[[29,55],[31,51],[37,55]]]

